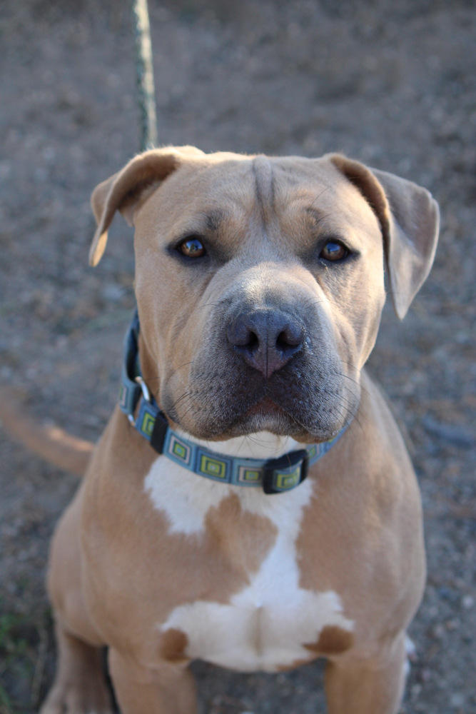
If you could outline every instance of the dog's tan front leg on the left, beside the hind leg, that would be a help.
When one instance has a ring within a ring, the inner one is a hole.
[[[109,650],[109,670],[121,714],[196,714],[196,686],[185,667],[163,662],[146,669]]]

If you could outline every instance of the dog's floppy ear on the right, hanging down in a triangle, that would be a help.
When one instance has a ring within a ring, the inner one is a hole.
[[[402,320],[435,257],[438,204],[429,191],[412,181],[368,169],[339,154],[330,160],[358,188],[380,222],[393,307]]]

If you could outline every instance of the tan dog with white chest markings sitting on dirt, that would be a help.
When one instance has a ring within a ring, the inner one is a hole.
[[[402,318],[438,210],[409,181],[323,159],[161,149],[93,193],[98,263],[136,228],[138,356],[178,435],[270,459],[342,435],[268,495],[158,456],[119,410],[51,550],[59,668],[42,714],[192,714],[194,658],[277,672],[328,658],[331,714],[393,714],[425,582],[420,497],[363,370],[385,301]],[[348,428],[345,428],[348,425]]]

